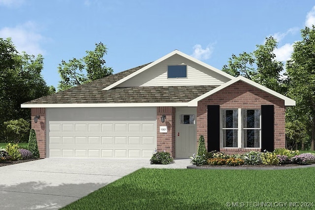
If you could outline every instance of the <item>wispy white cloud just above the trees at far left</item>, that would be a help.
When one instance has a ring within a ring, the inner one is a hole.
[[[27,22],[15,28],[2,28],[0,29],[0,37],[11,37],[13,44],[20,53],[25,51],[27,54],[35,56],[44,53],[44,50],[40,47],[40,42],[45,38],[37,32],[37,27],[32,22]]]

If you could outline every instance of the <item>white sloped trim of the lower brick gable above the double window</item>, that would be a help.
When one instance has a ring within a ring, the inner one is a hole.
[[[198,101],[200,101],[200,100],[208,97],[209,95],[212,95],[212,94],[214,94],[214,93],[216,93],[216,92],[218,92],[218,91],[220,91],[220,90],[222,90],[222,89],[224,89],[224,88],[226,88],[226,87],[228,87],[228,86],[230,86],[230,85],[232,85],[232,84],[234,84],[234,83],[236,83],[238,81],[243,81],[243,82],[245,82],[245,83],[247,83],[247,84],[249,84],[249,85],[251,85],[251,86],[253,86],[253,87],[257,88],[257,89],[263,90],[265,92],[268,92],[271,95],[274,95],[274,96],[276,96],[278,98],[283,99],[284,100],[284,106],[295,106],[295,101],[292,100],[291,98],[288,98],[288,97],[280,94],[279,92],[276,92],[276,91],[271,90],[269,88],[266,88],[266,87],[264,87],[262,85],[259,85],[258,83],[255,83],[252,80],[249,80],[249,79],[247,79],[245,77],[242,77],[242,76],[238,76],[238,77],[236,77],[236,78],[226,82],[225,84],[219,86],[218,88],[210,90],[209,92],[207,92],[207,93],[205,93],[203,95],[200,95],[199,97],[189,101],[189,106],[197,106]]]

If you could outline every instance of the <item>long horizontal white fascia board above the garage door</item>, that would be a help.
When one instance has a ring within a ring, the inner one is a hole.
[[[21,108],[91,108],[91,107],[191,107],[192,103],[81,103],[81,104],[21,104]]]

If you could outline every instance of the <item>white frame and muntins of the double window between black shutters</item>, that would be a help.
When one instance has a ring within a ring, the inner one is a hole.
[[[237,110],[237,123],[238,127],[237,128],[223,128],[222,125],[222,113],[221,111],[223,110]],[[261,110],[260,110],[260,115],[259,115],[259,128],[244,128],[242,120],[242,110],[257,110],[257,109],[221,109],[220,111],[220,148],[223,149],[261,149]],[[238,130],[237,132],[237,145],[238,147],[223,147],[223,130]],[[248,147],[243,147],[243,130],[259,130],[259,148],[248,148]]]

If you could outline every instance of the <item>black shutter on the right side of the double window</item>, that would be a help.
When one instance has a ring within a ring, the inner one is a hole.
[[[274,105],[261,105],[261,151],[274,150]]]

